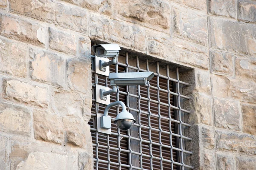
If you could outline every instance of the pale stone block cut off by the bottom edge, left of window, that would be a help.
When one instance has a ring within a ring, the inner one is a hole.
[[[72,170],[78,169],[78,163],[75,156],[33,152],[17,165],[16,170],[35,170],[38,167],[47,170]]]

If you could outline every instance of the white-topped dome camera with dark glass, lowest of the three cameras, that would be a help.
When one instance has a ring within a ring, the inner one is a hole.
[[[134,119],[134,116],[132,116],[128,111],[122,111],[119,113],[114,121],[116,126],[123,131],[131,129],[135,122],[136,120]]]

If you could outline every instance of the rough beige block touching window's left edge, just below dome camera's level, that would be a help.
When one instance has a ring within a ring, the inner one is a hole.
[[[67,133],[67,143],[84,149],[92,149],[90,125],[81,117],[64,116],[64,128]]]

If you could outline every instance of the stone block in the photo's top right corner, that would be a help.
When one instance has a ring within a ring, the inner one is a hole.
[[[256,23],[256,2],[254,0],[238,0],[238,20]]]

